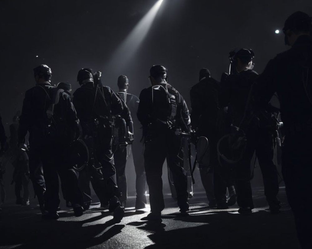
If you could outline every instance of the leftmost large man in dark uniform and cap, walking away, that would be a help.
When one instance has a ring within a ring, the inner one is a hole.
[[[76,173],[69,167],[66,158],[66,151],[78,127],[76,111],[69,96],[64,92],[56,93],[58,89],[51,86],[50,68],[41,65],[34,69],[34,73],[38,83],[25,93],[18,128],[18,142],[24,143],[28,131],[29,167],[40,205],[43,202],[44,182],[46,185],[44,208],[49,213],[45,217],[58,218],[56,214],[60,203],[58,175],[61,181],[66,183],[69,200],[72,204],[78,205],[74,207],[74,211],[76,216],[79,216],[83,210],[80,206],[83,204],[82,195]],[[59,97],[58,103],[54,102],[57,96]],[[41,164],[44,179],[38,178],[40,174],[37,172],[41,170]]]

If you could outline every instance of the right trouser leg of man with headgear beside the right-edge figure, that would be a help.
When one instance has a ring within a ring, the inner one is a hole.
[[[273,163],[273,139],[271,134],[263,134],[258,140],[256,155],[258,157],[264,184],[264,194],[269,205],[278,205],[276,195],[278,194],[278,174]]]

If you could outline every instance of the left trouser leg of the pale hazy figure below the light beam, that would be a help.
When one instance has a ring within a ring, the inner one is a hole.
[[[120,192],[119,200],[127,200],[127,178],[126,178],[127,148],[118,148],[114,153],[117,186]]]

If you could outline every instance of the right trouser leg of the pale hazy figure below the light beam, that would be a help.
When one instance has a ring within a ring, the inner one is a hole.
[[[133,144],[131,145],[132,149],[132,157],[135,169],[135,189],[136,189],[136,196],[140,201],[146,203],[146,176],[145,176],[145,168],[144,168],[144,155],[143,155],[143,144],[139,142],[139,137],[137,136],[137,141],[134,140]]]

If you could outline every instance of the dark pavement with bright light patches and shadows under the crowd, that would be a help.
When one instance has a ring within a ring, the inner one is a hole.
[[[0,248],[300,248],[285,189],[280,188],[277,215],[267,210],[262,188],[254,188],[253,195],[256,209],[248,216],[238,214],[236,205],[210,209],[203,192],[195,192],[189,215],[181,216],[165,195],[162,223],[141,220],[149,208],[136,211],[134,197],[117,224],[96,203],[81,217],[61,206],[60,218],[49,221],[41,219],[35,201],[26,207],[7,203],[0,216]]]

